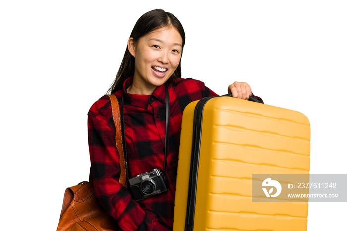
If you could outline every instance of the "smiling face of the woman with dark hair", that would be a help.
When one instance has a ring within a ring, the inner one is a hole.
[[[136,43],[128,41],[128,49],[135,58],[132,85],[127,92],[151,95],[176,70],[182,54],[182,37],[174,27],[154,30]]]

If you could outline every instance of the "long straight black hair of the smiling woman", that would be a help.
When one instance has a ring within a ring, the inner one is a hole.
[[[136,22],[132,32],[130,34],[130,38],[134,39],[136,43],[142,36],[146,34],[162,28],[162,27],[170,27],[173,26],[177,29],[179,34],[182,37],[182,52],[185,43],[185,33],[182,24],[180,21],[169,12],[165,12],[162,9],[151,10],[144,15],[142,15]],[[113,94],[116,91],[122,89],[124,81],[130,76],[134,75],[135,70],[135,58],[130,54],[128,47],[126,47],[125,54],[123,60],[120,64],[118,73],[116,78],[108,90],[109,94]],[[168,81],[173,81],[174,79],[181,78],[181,62],[179,62],[177,69],[172,74],[172,76],[168,79]]]

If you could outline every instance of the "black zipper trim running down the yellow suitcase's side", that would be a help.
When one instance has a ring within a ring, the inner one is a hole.
[[[213,97],[205,97],[201,99],[195,106],[194,110],[194,124],[193,124],[193,142],[190,162],[190,175],[189,175],[189,190],[187,200],[187,214],[185,218],[185,231],[192,231],[194,229],[194,215],[195,215],[195,202],[196,202],[196,188],[198,180],[198,168],[200,158],[200,143],[201,143],[201,129],[202,117],[204,107],[207,101]]]

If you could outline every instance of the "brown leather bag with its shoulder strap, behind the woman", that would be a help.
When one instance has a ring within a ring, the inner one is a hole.
[[[116,127],[116,146],[120,154],[119,183],[126,187],[121,121],[118,100],[109,95],[112,116]],[[65,191],[57,231],[119,231],[117,221],[109,215],[95,196],[94,185],[83,181]]]

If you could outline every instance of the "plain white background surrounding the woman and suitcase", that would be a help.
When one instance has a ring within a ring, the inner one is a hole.
[[[245,81],[266,104],[304,113],[310,173],[347,173],[346,1],[163,2],[1,1],[4,230],[56,229],[65,188],[88,180],[87,112],[116,76],[135,22],[155,8],[184,26],[183,77],[218,94]],[[346,208],[309,203],[308,231],[346,230]]]

